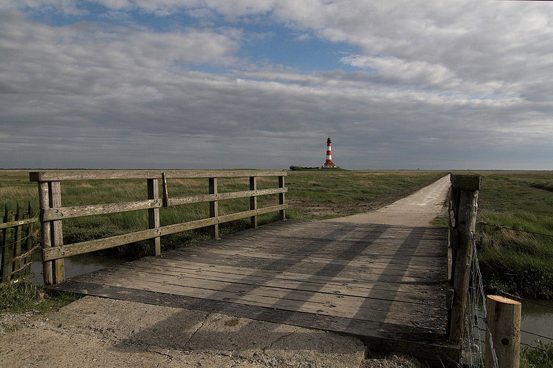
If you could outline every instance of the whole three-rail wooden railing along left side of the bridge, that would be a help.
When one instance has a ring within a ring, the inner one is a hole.
[[[257,177],[279,177],[278,188],[257,189]],[[44,171],[29,173],[31,182],[38,182],[41,222],[41,246],[44,284],[58,284],[64,280],[64,258],[71,255],[99,251],[141,240],[149,240],[149,254],[161,253],[160,237],[180,233],[191,229],[210,226],[212,238],[219,238],[218,225],[224,222],[250,217],[252,226],[257,226],[257,216],[263,213],[279,211],[280,219],[285,219],[288,207],[284,195],[288,188],[284,186],[285,171]],[[250,190],[218,193],[217,179],[221,177],[249,177]],[[167,179],[207,178],[209,194],[187,197],[169,197]],[[146,179],[148,198],[142,201],[86,206],[62,206],[60,182],[73,180],[131,180]],[[162,181],[162,197],[158,193],[159,181]],[[257,208],[259,195],[279,195],[279,204],[262,209]],[[218,201],[250,197],[250,210],[227,215],[218,214]],[[161,207],[209,202],[209,217],[201,220],[160,226],[159,209]],[[62,220],[91,215],[121,213],[136,210],[148,210],[149,229],[116,235],[109,238],[88,240],[75,244],[63,244]]]

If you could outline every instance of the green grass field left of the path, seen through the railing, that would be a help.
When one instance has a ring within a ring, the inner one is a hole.
[[[418,188],[445,175],[443,172],[424,171],[344,171],[316,170],[292,171],[285,177],[288,186],[286,202],[290,205],[287,217],[314,220],[349,215],[375,209],[379,206],[412,193]],[[169,196],[179,197],[207,194],[207,179],[169,179]],[[277,177],[259,177],[259,189],[278,186]],[[244,191],[249,180],[243,178],[220,178],[218,191]],[[28,181],[27,171],[0,171],[0,206],[6,202],[37,197],[37,184]],[[144,200],[147,198],[145,180],[95,180],[62,183],[63,206],[102,204]],[[258,206],[278,204],[278,195],[258,197]],[[235,213],[250,209],[249,198],[219,202],[219,213]],[[259,223],[277,220],[277,213],[259,217]],[[209,217],[207,203],[187,204],[160,209],[162,226]],[[115,213],[111,215],[80,217],[64,220],[64,244],[106,238],[147,229],[147,211]],[[222,224],[221,235],[245,229],[248,220]],[[187,231],[162,238],[164,249],[185,246],[207,238],[207,229]],[[141,257],[146,251],[146,242],[118,248],[120,255],[129,258]]]

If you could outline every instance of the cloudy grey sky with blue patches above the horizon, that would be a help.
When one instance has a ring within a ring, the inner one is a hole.
[[[553,169],[553,1],[0,0],[0,168]]]

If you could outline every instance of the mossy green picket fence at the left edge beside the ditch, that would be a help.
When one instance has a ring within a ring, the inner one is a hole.
[[[4,206],[0,214],[1,251],[0,284],[19,282],[30,276],[30,263],[35,240],[35,222],[38,222],[38,208],[35,200],[17,202]]]

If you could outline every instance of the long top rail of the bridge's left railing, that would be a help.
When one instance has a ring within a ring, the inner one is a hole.
[[[167,179],[184,179],[192,177],[250,177],[250,176],[285,176],[286,171],[236,170],[236,171],[164,171]],[[161,179],[162,171],[148,170],[52,170],[29,173],[31,182],[59,182],[66,180],[110,180],[110,179]]]

